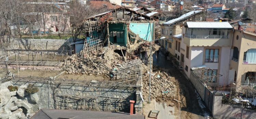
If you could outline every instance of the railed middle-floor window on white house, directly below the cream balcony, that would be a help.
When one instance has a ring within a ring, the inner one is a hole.
[[[205,49],[205,61],[217,63],[219,61],[219,49]]]

